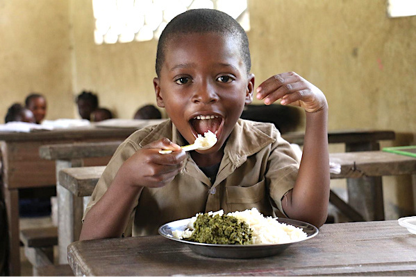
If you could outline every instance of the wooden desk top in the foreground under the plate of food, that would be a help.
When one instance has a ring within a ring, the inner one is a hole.
[[[415,238],[396,220],[349,222],[267,258],[209,258],[152,235],[73,242],[68,260],[76,276],[415,276]]]

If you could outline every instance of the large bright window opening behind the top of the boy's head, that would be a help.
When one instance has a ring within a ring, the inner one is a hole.
[[[249,30],[247,0],[92,0],[96,44],[158,39],[176,15],[194,8],[228,13]]]

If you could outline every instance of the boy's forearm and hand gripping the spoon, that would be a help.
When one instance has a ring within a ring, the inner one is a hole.
[[[162,155],[161,149],[173,152]],[[168,184],[181,172],[185,158],[179,145],[160,139],[126,159],[106,192],[85,215],[80,240],[121,237],[142,189]]]

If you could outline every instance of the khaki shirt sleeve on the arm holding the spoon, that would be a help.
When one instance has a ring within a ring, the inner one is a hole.
[[[94,192],[91,195],[90,202],[85,208],[85,212],[83,215],[83,222],[84,222],[85,216],[88,214],[92,206],[94,206],[99,201],[99,199],[101,199],[104,193],[106,193],[108,187],[113,182],[115,175],[117,174],[119,168],[122,166],[124,161],[126,161],[129,157],[133,156],[133,154],[135,154],[135,152],[137,152],[139,148],[140,147],[138,146],[138,144],[132,141],[131,139],[126,139],[126,141],[124,141],[119,146],[119,148],[117,148],[115,154],[113,155],[108,165],[106,166],[106,169],[104,170],[103,175],[101,175],[99,181],[97,182],[97,186],[95,186],[94,188]],[[126,229],[124,230],[124,233],[123,233],[124,237],[131,236],[134,214],[135,214],[135,208],[133,208],[133,211],[128,220],[128,224],[126,225]]]

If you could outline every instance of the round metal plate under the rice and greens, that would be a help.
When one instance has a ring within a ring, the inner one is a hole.
[[[261,258],[267,256],[274,256],[283,252],[290,245],[302,242],[289,242],[283,244],[251,244],[251,245],[234,245],[234,244],[206,244],[199,242],[188,242],[186,240],[180,240],[174,238],[172,231],[184,231],[187,229],[190,218],[185,220],[176,220],[169,222],[163,226],[160,226],[159,233],[163,237],[169,240],[175,240],[176,242],[185,243],[195,253],[199,253],[203,256],[215,257],[215,258],[233,258],[233,259],[247,259],[247,258]],[[315,237],[318,233],[317,227],[306,222],[298,220],[290,220],[287,218],[278,218],[278,222],[291,224],[293,226],[303,229],[308,236],[304,240]]]

